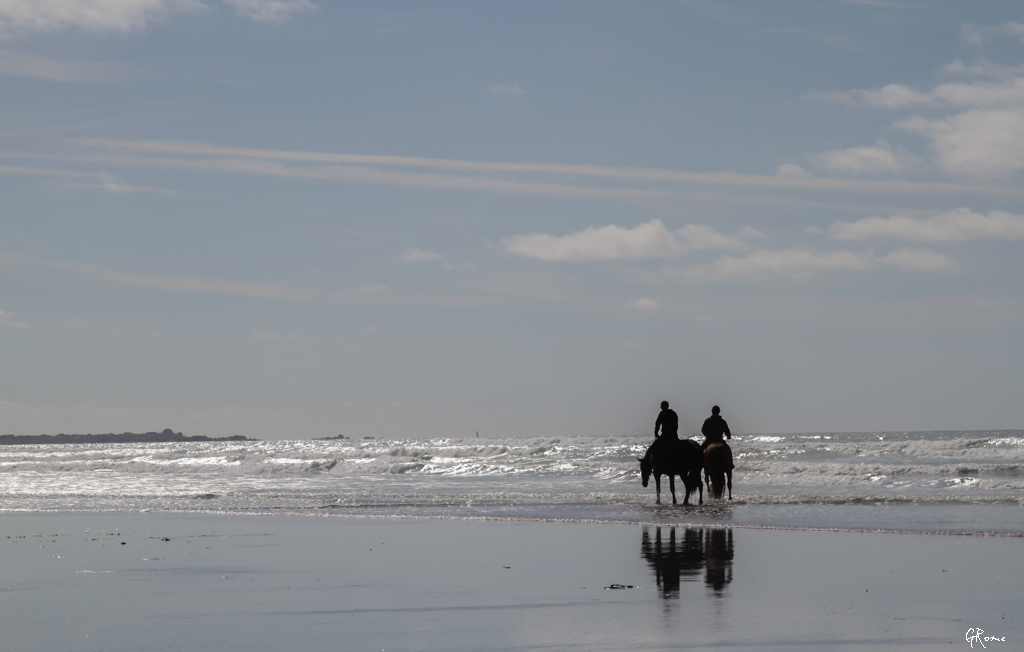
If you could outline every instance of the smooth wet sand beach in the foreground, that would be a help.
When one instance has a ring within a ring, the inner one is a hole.
[[[0,632],[9,652],[1010,651],[1024,539],[4,513]]]

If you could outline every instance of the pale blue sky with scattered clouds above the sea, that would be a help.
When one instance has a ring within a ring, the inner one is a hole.
[[[0,433],[1024,428],[1024,7],[0,0]]]

